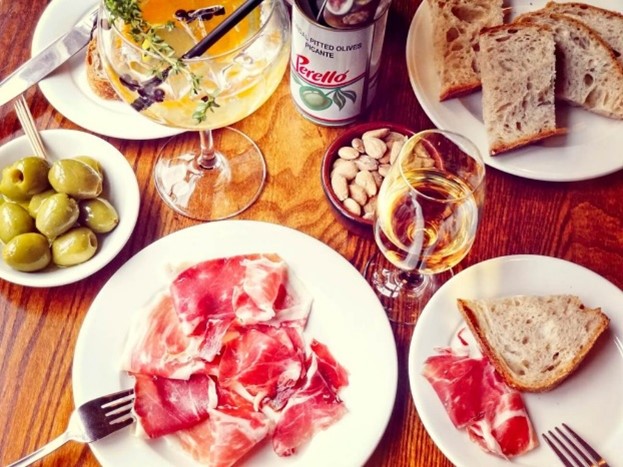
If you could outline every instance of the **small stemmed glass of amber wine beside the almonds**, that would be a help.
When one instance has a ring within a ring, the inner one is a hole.
[[[365,270],[390,321],[414,324],[469,252],[484,175],[478,148],[464,136],[426,130],[405,142],[377,197],[374,238],[382,256]]]

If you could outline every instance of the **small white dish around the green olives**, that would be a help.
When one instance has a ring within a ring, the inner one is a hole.
[[[20,272],[0,260],[0,278],[30,287],[53,287],[84,279],[106,266],[126,244],[138,217],[140,195],[136,175],[127,159],[103,139],[75,130],[44,130],[43,143],[50,161],[88,155],[98,160],[104,170],[104,196],[119,214],[119,225],[110,233],[98,235],[98,251],[89,261],[68,267],[49,267],[38,272]],[[32,154],[26,136],[0,147],[2,167]]]

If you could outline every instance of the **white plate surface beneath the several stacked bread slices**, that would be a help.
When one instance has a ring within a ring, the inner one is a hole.
[[[536,10],[546,0],[510,0],[505,6],[513,15]],[[608,0],[587,0],[602,8],[613,8]],[[576,181],[607,175],[623,168],[622,124],[588,111],[558,106],[557,119],[568,134],[548,138],[539,144],[489,155],[489,143],[482,119],[481,92],[439,102],[439,80],[433,63],[432,24],[427,2],[418,8],[407,36],[407,68],[411,85],[422,108],[439,128],[454,130],[471,138],[485,162],[506,173],[545,181]]]

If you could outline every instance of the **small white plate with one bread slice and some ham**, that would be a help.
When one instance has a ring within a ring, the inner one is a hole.
[[[563,422],[620,460],[623,291],[554,257],[475,264],[422,311],[409,381],[427,432],[458,467],[555,465],[542,434]]]

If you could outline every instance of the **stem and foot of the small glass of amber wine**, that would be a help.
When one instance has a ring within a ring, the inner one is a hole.
[[[388,319],[404,325],[417,322],[424,306],[453,275],[452,270],[438,274],[402,271],[380,255],[374,255],[364,270],[364,276],[379,297]]]

